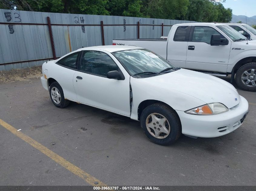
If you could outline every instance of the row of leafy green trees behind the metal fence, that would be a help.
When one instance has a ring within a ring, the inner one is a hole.
[[[117,15],[198,22],[230,22],[225,0],[0,0],[0,8],[73,14]]]

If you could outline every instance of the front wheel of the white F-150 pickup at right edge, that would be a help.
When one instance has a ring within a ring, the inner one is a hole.
[[[256,91],[256,62],[241,66],[236,73],[236,83],[245,91]]]

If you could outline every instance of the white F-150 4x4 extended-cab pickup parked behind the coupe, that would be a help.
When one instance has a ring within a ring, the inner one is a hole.
[[[241,89],[256,91],[256,40],[247,40],[226,24],[175,24],[167,39],[114,39],[113,45],[149,49],[181,68],[231,74],[231,82],[236,74]]]

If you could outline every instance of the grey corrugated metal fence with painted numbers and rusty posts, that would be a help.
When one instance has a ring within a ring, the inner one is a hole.
[[[0,71],[42,65],[116,38],[160,38],[178,21],[0,9]]]

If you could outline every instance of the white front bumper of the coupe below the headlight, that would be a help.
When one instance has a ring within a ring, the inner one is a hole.
[[[194,137],[218,137],[226,135],[243,123],[245,115],[248,113],[248,101],[240,96],[240,103],[230,108],[225,113],[216,115],[191,115],[184,111],[178,111],[182,134]]]

